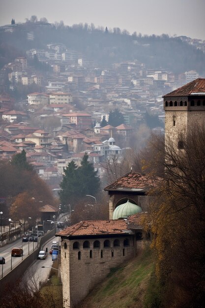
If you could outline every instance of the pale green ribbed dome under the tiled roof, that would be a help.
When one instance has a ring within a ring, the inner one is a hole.
[[[130,215],[141,213],[140,206],[133,204],[127,200],[126,203],[120,204],[113,212],[113,219],[127,218]]]

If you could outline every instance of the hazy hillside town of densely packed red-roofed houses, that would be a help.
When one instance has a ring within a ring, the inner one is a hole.
[[[28,35],[32,40],[32,33]],[[202,41],[180,38],[205,47]],[[39,70],[40,65],[49,69]],[[80,165],[88,153],[103,177],[102,162],[114,155],[120,160],[126,149],[140,147],[133,136],[146,124],[146,114],[157,118],[154,129],[164,131],[162,96],[198,77],[196,70],[176,75],[161,67],[150,69],[137,59],[99,67],[62,43],[27,50],[0,70],[0,159],[25,150],[39,177],[56,187],[68,162]],[[39,91],[17,98],[16,87],[28,91],[33,85]],[[122,115],[121,123],[109,124],[111,112]]]

